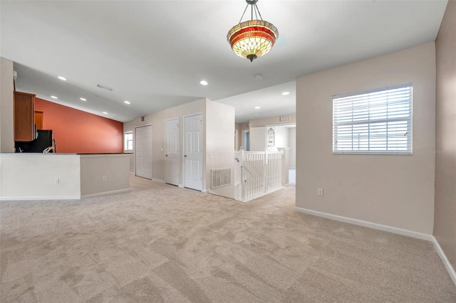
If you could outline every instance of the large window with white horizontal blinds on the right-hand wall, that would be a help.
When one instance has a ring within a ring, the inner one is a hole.
[[[333,97],[333,154],[412,154],[411,83]]]

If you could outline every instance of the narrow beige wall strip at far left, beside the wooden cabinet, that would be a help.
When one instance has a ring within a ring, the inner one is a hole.
[[[14,152],[13,78],[13,61],[0,58],[0,152]]]

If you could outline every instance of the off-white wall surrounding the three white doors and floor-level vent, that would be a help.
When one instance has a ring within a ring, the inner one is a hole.
[[[135,118],[133,122],[124,123],[124,131],[129,131],[141,125],[152,124],[152,179],[165,181],[165,119],[179,117],[180,119],[180,186],[184,184],[183,166],[183,133],[185,115],[202,113],[203,116],[203,191],[234,198],[234,186],[224,186],[211,190],[210,176],[213,168],[234,168],[234,107],[212,102],[204,98],[195,102],[172,107],[145,116],[145,121]],[[133,136],[134,137],[134,136]],[[208,141],[210,140],[210,141]],[[135,146],[135,144],[133,144]],[[212,158],[210,157],[212,154]],[[133,156],[134,159],[134,156]],[[134,167],[134,164],[133,164]],[[234,169],[232,169],[234,178]],[[234,180],[234,179],[232,179]]]

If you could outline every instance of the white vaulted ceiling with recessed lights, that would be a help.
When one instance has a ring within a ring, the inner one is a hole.
[[[434,41],[446,4],[260,0],[279,40],[251,63],[226,38],[244,0],[0,1],[0,55],[17,90],[95,115],[126,122],[208,97],[246,122],[293,113],[296,77]]]

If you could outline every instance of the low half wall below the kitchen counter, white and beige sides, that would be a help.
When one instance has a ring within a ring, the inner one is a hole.
[[[65,200],[130,191],[129,156],[1,153],[0,200]]]

